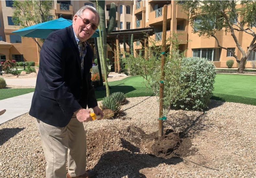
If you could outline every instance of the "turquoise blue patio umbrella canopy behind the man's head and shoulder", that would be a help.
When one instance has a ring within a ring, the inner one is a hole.
[[[66,28],[72,25],[73,21],[65,18],[58,18],[55,20],[43,22],[30,27],[16,30],[12,33],[22,37],[33,37],[46,39],[50,33],[55,30]],[[99,30],[97,29],[91,38],[99,37]]]

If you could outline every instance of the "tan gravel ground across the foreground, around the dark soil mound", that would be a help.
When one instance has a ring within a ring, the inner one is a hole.
[[[84,123],[87,169],[99,178],[256,177],[256,106],[212,100],[205,114],[171,110],[165,128],[187,133],[191,147],[165,159],[134,141],[138,132],[157,131],[156,97],[128,101],[119,118]],[[1,177],[42,178],[45,166],[34,118],[27,113],[0,125]]]

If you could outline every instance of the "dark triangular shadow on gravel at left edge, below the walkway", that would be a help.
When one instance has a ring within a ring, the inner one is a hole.
[[[3,145],[10,138],[14,137],[17,133],[24,128],[3,128],[0,130],[0,146]]]

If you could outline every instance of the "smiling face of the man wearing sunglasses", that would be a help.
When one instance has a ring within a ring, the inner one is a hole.
[[[83,19],[90,23],[86,25]],[[92,28],[92,24],[97,25],[98,21],[99,17],[89,9],[85,9],[83,15],[80,17],[75,15],[73,18],[73,29],[77,38],[82,42],[89,39],[95,32]]]

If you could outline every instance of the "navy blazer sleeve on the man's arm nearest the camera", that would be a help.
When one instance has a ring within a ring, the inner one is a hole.
[[[64,42],[52,33],[45,40],[40,55],[40,70],[48,89],[62,108],[64,115],[70,116],[81,108],[64,80],[65,50]]]

